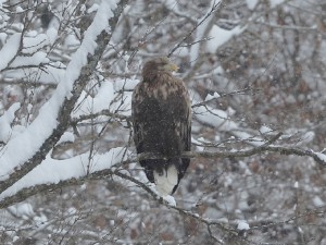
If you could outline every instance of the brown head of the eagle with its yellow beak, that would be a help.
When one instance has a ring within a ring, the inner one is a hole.
[[[145,81],[151,82],[160,73],[172,75],[172,72],[176,72],[177,70],[178,66],[172,63],[167,57],[160,57],[145,63],[142,77]]]

